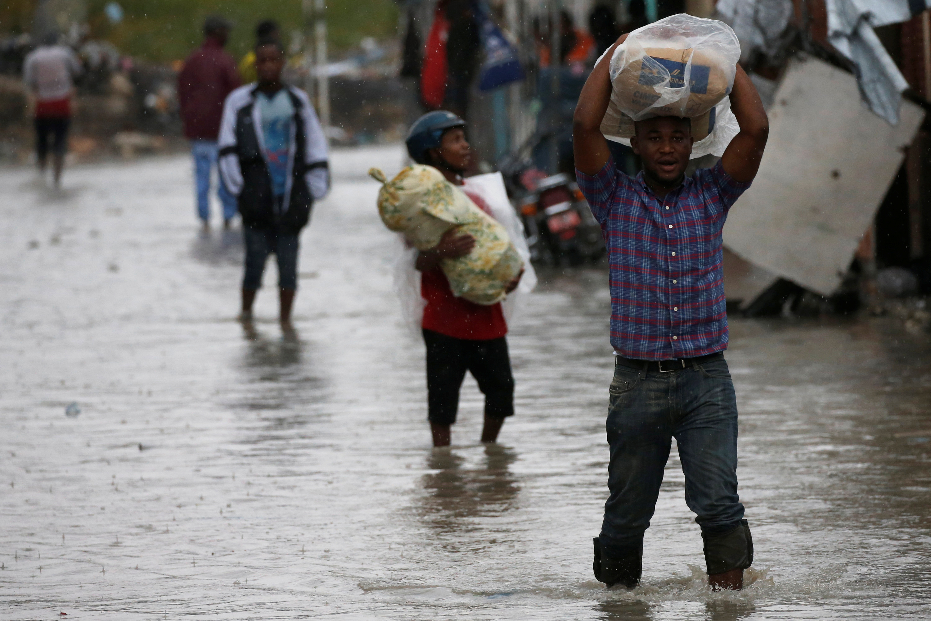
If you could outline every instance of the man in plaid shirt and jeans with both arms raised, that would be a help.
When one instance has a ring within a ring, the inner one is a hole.
[[[606,425],[611,494],[595,539],[595,576],[609,587],[640,581],[643,532],[675,438],[708,584],[739,589],[753,543],[737,497],[737,408],[722,354],[722,227],[756,176],[769,122],[738,66],[730,98],[740,132],[721,161],[686,178],[690,121],[655,117],[636,123],[631,146],[643,171],[628,177],[600,132],[614,47],[589,75],[573,119],[576,177],[608,245],[616,355]]]

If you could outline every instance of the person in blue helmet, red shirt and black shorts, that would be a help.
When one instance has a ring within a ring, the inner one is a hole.
[[[408,135],[408,153],[418,164],[433,166],[447,181],[463,186],[463,173],[472,160],[466,141],[466,122],[446,111],[422,116]],[[465,190],[472,201],[490,215],[492,210],[476,193]],[[514,413],[514,377],[507,353],[507,323],[501,304],[484,306],[457,298],[439,267],[443,259],[465,256],[475,238],[447,231],[439,244],[417,255],[421,295],[426,302],[423,318],[426,344],[427,409],[434,446],[449,446],[450,427],[456,421],[459,389],[472,373],[485,395],[482,442],[494,442],[505,419]],[[522,273],[521,273],[522,274]],[[517,289],[520,276],[507,287]]]

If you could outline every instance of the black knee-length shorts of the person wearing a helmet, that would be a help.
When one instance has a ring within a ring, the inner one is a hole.
[[[514,414],[514,376],[505,337],[469,341],[424,331],[426,344],[427,419],[452,425],[459,410],[459,388],[466,371],[479,383],[485,396],[485,416],[505,418]]]

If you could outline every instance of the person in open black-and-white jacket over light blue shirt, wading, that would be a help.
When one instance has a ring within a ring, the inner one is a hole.
[[[327,139],[310,99],[281,81],[285,50],[277,39],[255,46],[256,84],[237,88],[223,106],[220,172],[237,197],[246,244],[244,324],[262,287],[269,254],[278,263],[281,327],[288,333],[297,292],[298,236],[314,201],[327,195]]]

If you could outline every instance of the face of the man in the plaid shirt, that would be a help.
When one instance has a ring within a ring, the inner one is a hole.
[[[677,116],[657,116],[637,121],[637,135],[630,139],[634,153],[641,156],[643,172],[661,185],[681,180],[692,154],[692,126]]]

